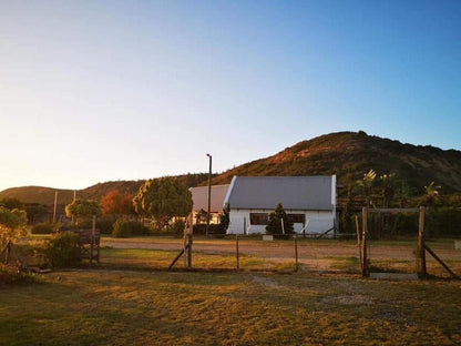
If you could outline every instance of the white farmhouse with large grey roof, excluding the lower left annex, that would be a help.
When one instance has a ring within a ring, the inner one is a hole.
[[[319,234],[336,226],[336,175],[234,176],[224,200],[229,211],[227,234],[266,233],[278,203],[295,223],[295,232]]]

